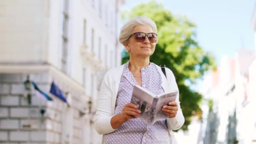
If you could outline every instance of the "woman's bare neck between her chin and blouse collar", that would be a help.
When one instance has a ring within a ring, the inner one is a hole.
[[[134,75],[141,75],[141,68],[148,66],[149,63],[149,57],[145,59],[130,56],[129,69]]]

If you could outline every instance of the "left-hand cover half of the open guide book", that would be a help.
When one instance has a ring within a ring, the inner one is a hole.
[[[154,98],[155,95],[152,96],[152,94],[139,85],[134,85],[131,98],[131,103],[135,104],[141,111],[138,118],[148,125],[152,125],[155,116],[155,108],[152,108],[152,104],[155,103],[154,105],[156,105],[157,103],[157,98]]]

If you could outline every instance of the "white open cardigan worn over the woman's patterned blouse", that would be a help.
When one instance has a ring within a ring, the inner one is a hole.
[[[157,66],[157,65],[156,65]],[[105,75],[101,83],[101,88],[97,100],[97,111],[94,116],[95,129],[99,134],[108,134],[114,132],[110,120],[114,116],[115,102],[117,98],[117,91],[119,88],[119,83],[123,73],[123,65],[110,69]],[[162,76],[162,88],[165,93],[172,91],[179,91],[173,72],[165,68],[166,77],[163,74],[161,68],[157,66],[161,76]],[[171,139],[171,144],[177,144],[175,138],[173,137],[172,130],[177,130],[181,128],[184,124],[184,116],[182,114],[179,102],[179,94],[176,98],[178,104],[178,112],[176,117],[167,118],[167,125],[169,130],[169,136]]]

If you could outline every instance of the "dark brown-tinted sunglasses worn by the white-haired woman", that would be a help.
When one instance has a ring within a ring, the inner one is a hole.
[[[139,43],[144,42],[144,40],[146,39],[146,36],[149,39],[150,43],[156,43],[156,41],[157,41],[157,34],[155,34],[153,32],[147,33],[147,34],[144,32],[135,32],[131,36],[133,36],[133,35],[135,35],[136,42],[139,42]]]

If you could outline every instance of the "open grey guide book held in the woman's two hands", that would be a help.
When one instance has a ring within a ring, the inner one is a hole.
[[[131,103],[135,104],[141,111],[138,118],[147,125],[153,125],[157,120],[168,117],[163,113],[162,107],[170,101],[175,101],[177,94],[178,91],[174,91],[157,96],[139,85],[134,85]]]

